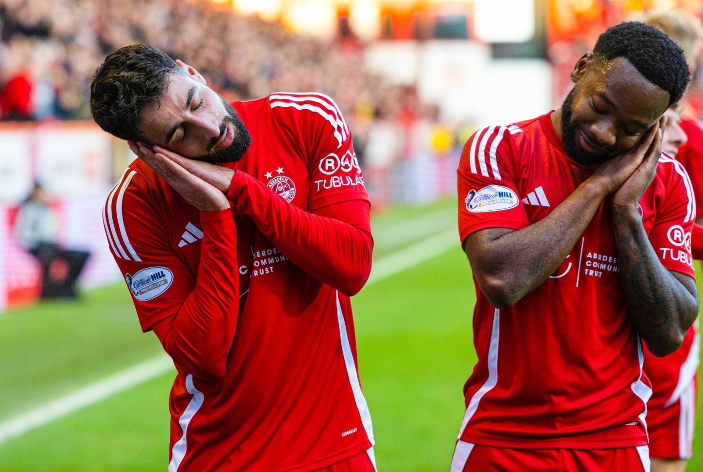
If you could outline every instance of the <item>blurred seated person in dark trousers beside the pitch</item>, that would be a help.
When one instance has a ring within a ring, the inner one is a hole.
[[[87,251],[65,249],[57,242],[56,214],[51,198],[39,184],[20,206],[15,235],[41,264],[41,297],[76,296],[76,281],[90,255]]]

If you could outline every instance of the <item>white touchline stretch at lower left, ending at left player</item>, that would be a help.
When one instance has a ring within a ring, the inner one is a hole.
[[[174,363],[171,358],[167,355],[160,355],[157,358],[117,372],[117,374],[109,376],[107,379],[97,381],[44,406],[20,414],[13,419],[0,423],[0,444],[34,428],[51,423],[55,419],[65,417],[77,409],[105,400],[105,398],[115,395],[115,393],[154,379],[156,376],[169,372],[172,369],[174,369]]]

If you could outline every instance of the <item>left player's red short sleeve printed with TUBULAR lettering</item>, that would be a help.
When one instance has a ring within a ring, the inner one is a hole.
[[[269,103],[307,159],[310,211],[349,200],[368,202],[352,133],[337,103],[323,93],[274,93]]]

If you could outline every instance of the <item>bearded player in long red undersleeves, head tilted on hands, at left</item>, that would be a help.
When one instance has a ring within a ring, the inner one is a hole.
[[[370,272],[369,202],[335,102],[230,104],[135,45],[98,67],[91,111],[141,158],[104,220],[176,366],[169,471],[375,471],[349,302]]]

